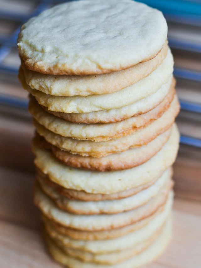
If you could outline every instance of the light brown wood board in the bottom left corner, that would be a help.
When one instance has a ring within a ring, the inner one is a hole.
[[[59,268],[53,262],[41,240],[40,232],[6,222],[0,222],[0,267]]]

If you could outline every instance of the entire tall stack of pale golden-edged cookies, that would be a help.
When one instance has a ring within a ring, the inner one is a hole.
[[[131,0],[55,6],[22,26],[35,204],[53,258],[134,268],[171,237],[179,103],[166,20]]]

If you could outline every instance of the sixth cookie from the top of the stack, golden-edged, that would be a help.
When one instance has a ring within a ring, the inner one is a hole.
[[[160,118],[153,121],[147,127],[139,129],[133,134],[124,136],[120,139],[111,139],[102,142],[63,137],[46,129],[36,120],[34,120],[34,125],[37,132],[52,145],[69,151],[72,154],[101,157],[148,144],[151,140],[155,139],[158,135],[164,133],[171,127],[179,109],[179,105],[177,105],[177,107],[170,106]]]

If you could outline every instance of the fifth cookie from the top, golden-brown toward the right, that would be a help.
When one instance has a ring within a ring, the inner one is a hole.
[[[178,110],[179,102],[177,96],[174,95],[174,92],[170,95],[168,94],[168,96],[166,96],[166,98],[153,110],[116,123],[72,123],[45,112],[32,98],[29,104],[29,112],[38,121],[38,123],[56,134],[64,137],[72,137],[74,139],[99,142],[110,139],[119,139],[123,136],[132,134],[160,118],[169,107],[174,107],[175,110]]]

